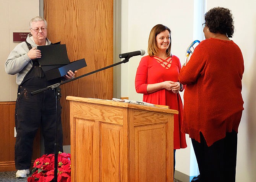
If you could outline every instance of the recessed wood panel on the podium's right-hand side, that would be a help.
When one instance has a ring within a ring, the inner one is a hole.
[[[150,123],[134,128],[135,181],[166,182],[168,125]]]

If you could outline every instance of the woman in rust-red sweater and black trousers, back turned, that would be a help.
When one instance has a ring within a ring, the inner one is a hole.
[[[234,32],[230,10],[212,8],[204,19],[206,40],[179,75],[186,85],[181,131],[190,135],[202,182],[235,182],[243,55],[229,39]]]

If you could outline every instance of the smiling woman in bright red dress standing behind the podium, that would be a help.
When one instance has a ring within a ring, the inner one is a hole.
[[[174,170],[176,149],[186,148],[185,134],[180,131],[183,104],[179,91],[183,85],[178,82],[178,74],[181,69],[180,60],[171,54],[171,31],[168,27],[157,24],[149,34],[148,56],[141,58],[136,77],[135,89],[143,93],[143,101],[167,105],[170,109],[178,110],[174,114]],[[174,173],[173,173],[174,174]]]

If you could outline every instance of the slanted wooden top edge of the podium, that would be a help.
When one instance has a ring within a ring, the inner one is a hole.
[[[115,106],[115,107],[123,107],[123,108],[133,108],[133,109],[140,109],[140,110],[147,110],[147,111],[156,111],[156,112],[162,112],[162,113],[178,114],[177,110],[171,110],[168,108],[162,108],[158,106],[139,105],[139,104],[124,103],[124,102],[117,102],[117,101],[97,99],[97,98],[67,96],[66,100],[107,105],[107,106]]]

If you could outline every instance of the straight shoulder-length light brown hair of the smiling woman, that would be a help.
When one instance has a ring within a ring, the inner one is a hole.
[[[172,44],[171,30],[167,26],[164,26],[162,24],[157,24],[151,29],[149,34],[149,41],[148,41],[148,47],[147,47],[147,53],[149,54],[149,56],[153,56],[157,54],[158,48],[156,43],[156,36],[165,30],[168,30],[170,34],[170,45],[166,50],[166,54],[167,56],[171,55],[171,44]]]

